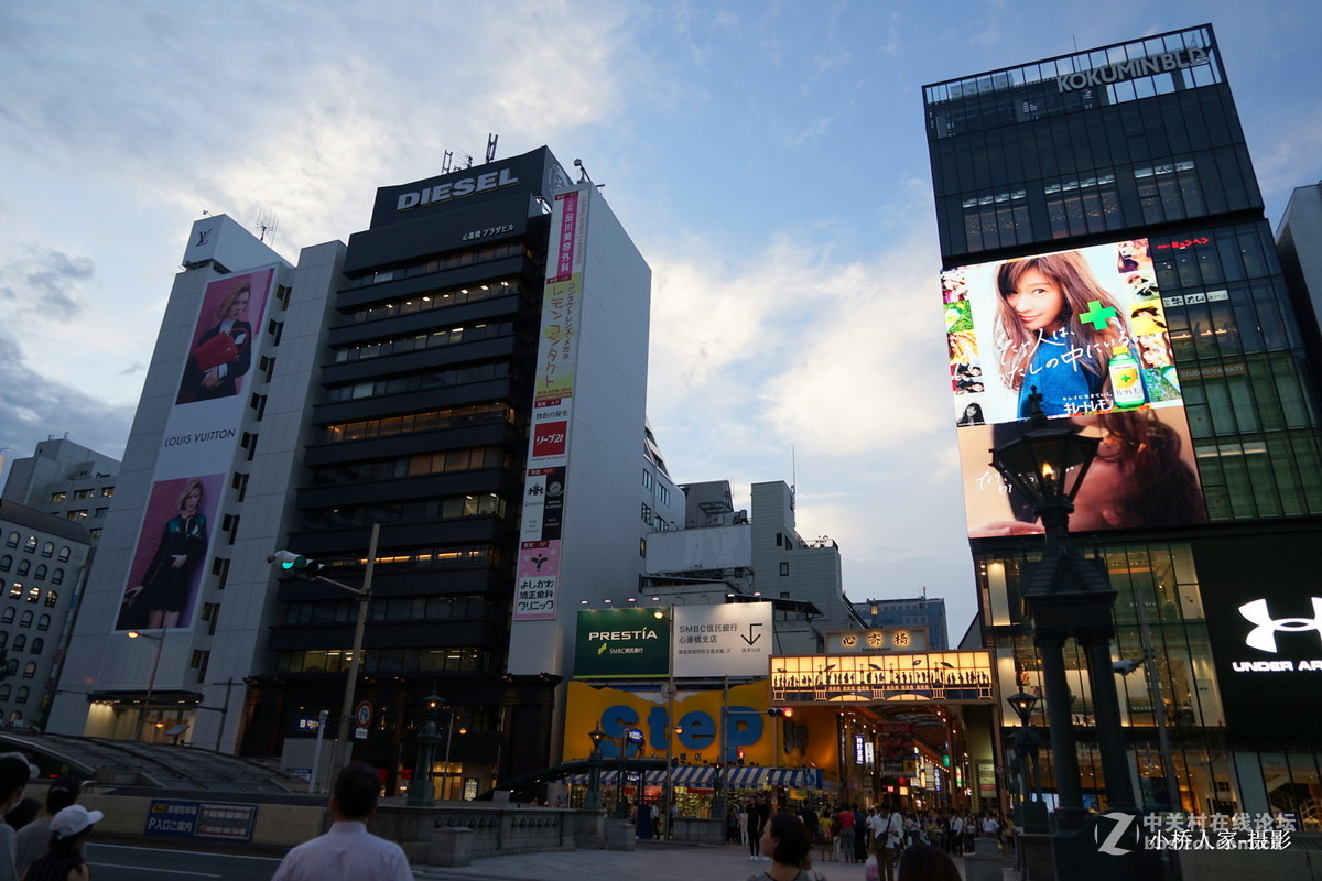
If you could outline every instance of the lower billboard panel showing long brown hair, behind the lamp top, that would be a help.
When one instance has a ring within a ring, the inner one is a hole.
[[[1075,497],[1071,532],[1204,523],[1202,486],[1183,407],[1066,417],[1101,444]],[[992,468],[992,449],[1029,431],[1027,420],[960,428],[969,536],[1031,535],[1042,524]]]

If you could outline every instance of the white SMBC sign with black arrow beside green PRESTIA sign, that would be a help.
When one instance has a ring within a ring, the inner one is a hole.
[[[674,608],[676,676],[765,676],[771,604]]]

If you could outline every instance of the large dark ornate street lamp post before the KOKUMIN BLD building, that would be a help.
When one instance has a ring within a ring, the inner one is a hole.
[[[1068,423],[1052,425],[1042,412],[1042,395],[1035,387],[1029,404],[1029,431],[993,449],[992,466],[1032,503],[1032,511],[1042,519],[1046,532],[1042,561],[1026,567],[1023,598],[1032,614],[1032,641],[1042,655],[1051,761],[1059,798],[1052,833],[1056,877],[1081,878],[1091,877],[1089,866],[1096,861],[1097,851],[1096,841],[1088,835],[1089,818],[1083,807],[1079,757],[1071,728],[1064,659],[1064,643],[1071,637],[1087,656],[1109,808],[1132,815],[1130,828],[1142,829],[1141,818],[1134,816],[1133,783],[1110,660],[1116,590],[1107,577],[1105,565],[1084,559],[1069,538],[1073,498],[1101,441],[1081,436]],[[1137,855],[1138,849],[1124,857],[1129,866],[1112,865],[1121,873],[1132,868],[1130,877],[1145,877],[1138,873],[1141,860]]]

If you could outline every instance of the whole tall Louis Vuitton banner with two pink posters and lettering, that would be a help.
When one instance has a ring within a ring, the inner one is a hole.
[[[274,269],[227,275],[202,292],[116,630],[192,626],[274,277]]]

